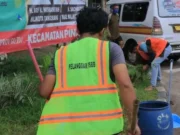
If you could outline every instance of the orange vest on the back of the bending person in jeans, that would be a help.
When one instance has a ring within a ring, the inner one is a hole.
[[[167,41],[160,38],[147,38],[146,43],[147,40],[150,40],[150,48],[156,54],[156,57],[159,57],[166,48]]]

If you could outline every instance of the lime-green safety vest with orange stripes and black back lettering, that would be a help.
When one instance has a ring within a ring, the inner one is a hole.
[[[56,84],[37,135],[112,135],[124,121],[110,78],[109,42],[84,38],[56,51]]]

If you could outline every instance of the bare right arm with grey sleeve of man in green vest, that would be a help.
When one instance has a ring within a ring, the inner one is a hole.
[[[110,60],[113,74],[120,88],[119,96],[128,114],[128,119],[131,121],[133,102],[136,99],[136,94],[128,74],[123,51],[115,43],[110,43]]]

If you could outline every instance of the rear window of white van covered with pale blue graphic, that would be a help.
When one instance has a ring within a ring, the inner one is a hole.
[[[158,0],[160,17],[179,17],[180,0]]]

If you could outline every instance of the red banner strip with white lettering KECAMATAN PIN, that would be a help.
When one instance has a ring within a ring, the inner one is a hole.
[[[0,53],[26,50],[27,41],[31,43],[33,48],[36,48],[69,42],[76,36],[76,25],[0,32]]]

